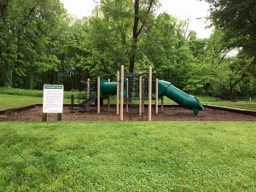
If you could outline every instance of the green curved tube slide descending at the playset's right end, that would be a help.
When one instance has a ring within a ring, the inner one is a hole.
[[[183,90],[177,89],[171,83],[160,80],[158,86],[159,96],[167,96],[173,102],[177,102],[181,107],[193,110],[194,114],[198,114],[199,111],[203,110],[203,106],[195,96],[191,96],[183,92]]]

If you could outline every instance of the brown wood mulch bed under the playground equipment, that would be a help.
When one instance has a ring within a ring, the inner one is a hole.
[[[160,110],[160,109],[159,109]],[[124,108],[124,120],[129,121],[148,121],[148,108],[145,112],[139,115],[139,108],[133,107],[127,113]],[[42,121],[43,108],[36,106],[28,110],[20,111],[19,113],[8,113],[0,121]],[[49,113],[48,121],[56,121],[57,114]],[[95,107],[89,107],[82,112],[72,113],[69,107],[64,107],[63,121],[119,121],[120,117],[116,114],[116,108],[103,107],[101,113],[96,112]],[[194,115],[192,110],[185,108],[164,108],[164,112],[154,113],[152,108],[152,121],[256,121],[256,116],[241,113],[231,113],[227,111],[204,108],[204,111]]]

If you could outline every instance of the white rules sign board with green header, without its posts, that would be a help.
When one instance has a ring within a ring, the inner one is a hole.
[[[63,85],[44,84],[43,113],[63,112]]]

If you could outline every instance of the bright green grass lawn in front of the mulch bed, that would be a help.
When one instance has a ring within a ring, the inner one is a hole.
[[[253,122],[2,122],[0,191],[256,191]]]

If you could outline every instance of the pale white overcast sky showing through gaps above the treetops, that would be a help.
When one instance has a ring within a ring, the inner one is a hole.
[[[60,0],[64,3],[65,8],[72,15],[78,18],[90,16],[96,3],[93,0]],[[99,1],[99,0],[97,0]],[[209,5],[206,2],[198,0],[161,0],[162,8],[160,11],[166,11],[170,15],[175,15],[179,20],[191,18],[189,29],[197,32],[198,38],[209,38],[212,29],[206,29],[206,20],[203,18],[209,15],[207,10]]]

